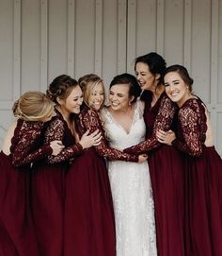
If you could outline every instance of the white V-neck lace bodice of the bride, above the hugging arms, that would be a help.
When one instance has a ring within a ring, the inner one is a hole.
[[[112,117],[111,113],[104,108],[102,115],[104,129],[109,145],[120,150],[125,147],[138,144],[145,139],[146,127],[143,120],[143,105],[140,101],[136,102],[135,115],[130,132],[127,133]],[[137,153],[137,152],[136,152]]]

